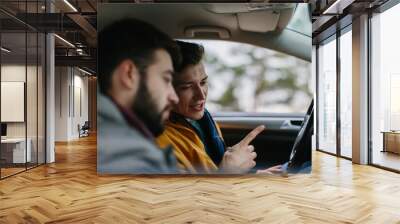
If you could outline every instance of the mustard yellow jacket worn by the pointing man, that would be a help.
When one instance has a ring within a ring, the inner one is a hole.
[[[222,138],[217,124],[216,127]],[[183,173],[213,173],[218,170],[217,165],[208,156],[200,137],[188,125],[167,121],[165,131],[157,138],[157,143],[161,148],[172,145],[178,168]]]

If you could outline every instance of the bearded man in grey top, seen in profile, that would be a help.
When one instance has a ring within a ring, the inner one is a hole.
[[[178,102],[176,43],[150,24],[124,19],[99,33],[98,46],[98,173],[177,173],[172,150],[154,141]]]

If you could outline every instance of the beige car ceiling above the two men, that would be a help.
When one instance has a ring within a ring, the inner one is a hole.
[[[301,33],[287,28],[296,7],[288,3],[103,3],[98,5],[97,28],[136,18],[176,39],[249,43],[311,61],[311,30]],[[311,19],[304,19],[311,26]]]

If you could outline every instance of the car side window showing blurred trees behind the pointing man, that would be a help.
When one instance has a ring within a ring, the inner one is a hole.
[[[312,99],[311,63],[280,52],[219,40],[204,46],[212,112],[304,113]]]

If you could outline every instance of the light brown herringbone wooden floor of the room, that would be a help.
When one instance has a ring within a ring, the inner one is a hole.
[[[320,152],[311,175],[97,176],[93,137],[0,181],[0,223],[400,223],[400,175]]]

